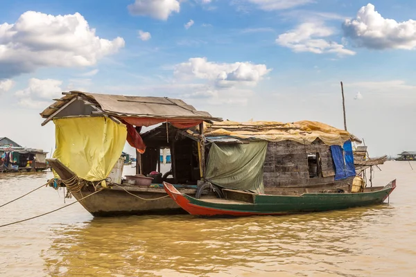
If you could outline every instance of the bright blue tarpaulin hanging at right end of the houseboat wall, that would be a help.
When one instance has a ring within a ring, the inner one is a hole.
[[[331,145],[332,159],[335,164],[336,180],[356,175],[351,141],[345,141],[343,148],[341,148],[340,145]]]

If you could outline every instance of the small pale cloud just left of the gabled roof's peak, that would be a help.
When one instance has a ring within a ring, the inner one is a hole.
[[[59,98],[61,96],[62,81],[53,79],[40,80],[37,78],[31,78],[28,81],[28,87],[16,91],[16,96],[20,98],[19,105],[23,107],[41,108],[45,103],[45,100],[51,102],[52,98]]]

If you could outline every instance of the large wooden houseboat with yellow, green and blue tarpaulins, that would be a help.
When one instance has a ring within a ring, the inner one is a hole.
[[[94,216],[184,212],[163,182],[196,199],[223,198],[225,189],[353,191],[352,143],[361,141],[345,130],[306,120],[223,121],[171,98],[63,94],[41,113],[42,125],[53,121],[56,130],[51,186],[66,186]],[[137,174],[122,180],[114,176],[125,141],[137,150]],[[162,175],[164,149],[171,170]]]

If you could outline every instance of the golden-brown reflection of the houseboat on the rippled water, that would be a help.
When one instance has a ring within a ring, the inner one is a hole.
[[[42,256],[54,276],[62,271],[69,276],[157,272],[220,276],[234,270],[234,275],[293,272],[291,265],[306,274],[311,264],[318,265],[313,271],[346,271],[339,258],[360,256],[365,250],[354,247],[354,242],[367,238],[358,230],[377,224],[377,218],[388,220],[393,213],[394,208],[376,206],[347,213],[250,219],[187,215],[94,219],[55,229],[59,238]]]

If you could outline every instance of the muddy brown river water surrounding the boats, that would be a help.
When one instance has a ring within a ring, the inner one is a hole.
[[[374,186],[397,179],[390,204],[344,211],[93,218],[74,204],[0,228],[0,276],[416,276],[412,166],[388,161],[375,170]],[[0,205],[48,178],[0,175]],[[0,208],[0,225],[63,205],[62,190],[41,188]]]

